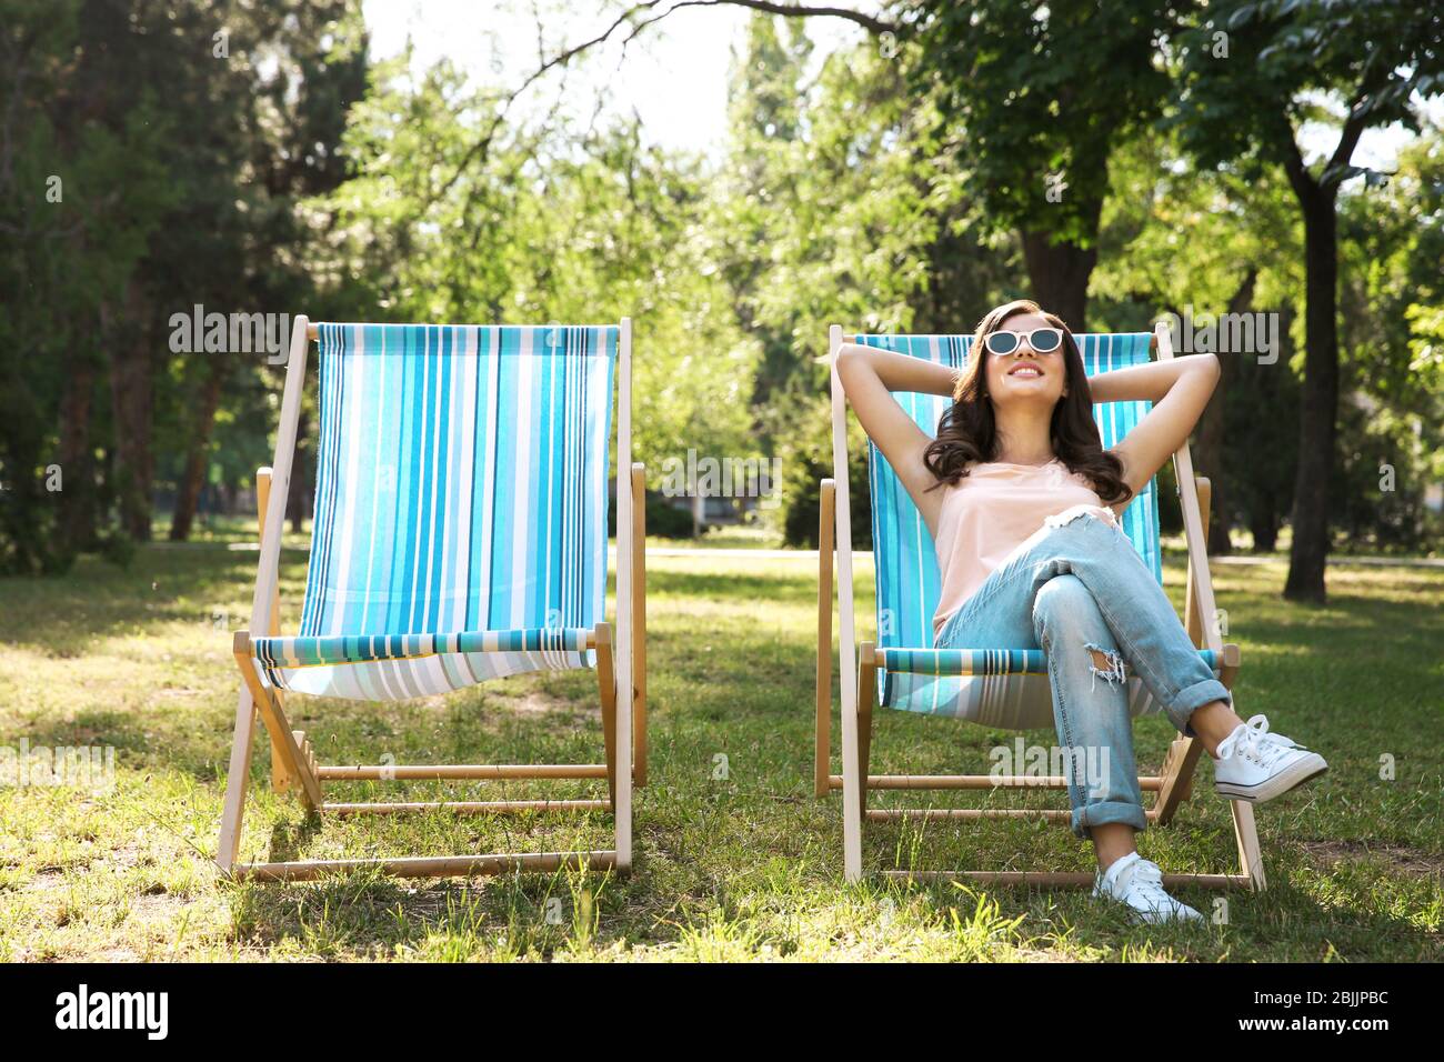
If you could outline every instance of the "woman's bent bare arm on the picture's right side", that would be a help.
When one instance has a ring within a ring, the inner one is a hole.
[[[1142,490],[1184,444],[1217,383],[1219,358],[1213,354],[1190,354],[1089,379],[1093,402],[1154,403],[1148,416],[1113,446],[1129,487]]]

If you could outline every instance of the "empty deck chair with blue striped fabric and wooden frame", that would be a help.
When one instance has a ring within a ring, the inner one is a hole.
[[[282,637],[277,569],[310,340],[319,445],[299,633]],[[608,459],[617,393],[617,636],[605,621]],[[290,340],[276,462],[257,475],[260,565],[217,863],[235,878],[403,877],[631,865],[631,795],[645,783],[643,467],[631,462],[631,321],[602,327],[312,325]],[[274,498],[274,504],[270,501]],[[316,763],[292,695],[396,701],[521,672],[595,668],[605,763]],[[618,711],[618,691],[634,691]],[[628,709],[630,708],[630,709]],[[238,863],[260,715],[273,787],[319,815],[611,811],[609,851]],[[635,722],[635,725],[634,725]],[[634,738],[635,731],[635,738]],[[635,741],[635,770],[634,770]],[[349,780],[596,779],[605,799],[328,802]]]

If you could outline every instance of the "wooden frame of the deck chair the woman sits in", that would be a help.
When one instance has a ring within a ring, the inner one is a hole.
[[[832,363],[832,449],[833,477],[822,481],[822,511],[817,529],[817,699],[816,748],[813,786],[817,796],[835,789],[843,795],[843,871],[849,881],[862,877],[862,824],[894,818],[923,819],[988,819],[1044,818],[1067,824],[1071,818],[1063,809],[892,809],[869,811],[868,790],[879,789],[1067,789],[1067,779],[991,774],[869,774],[872,746],[872,715],[877,702],[877,669],[881,666],[874,644],[856,643],[852,592],[852,510],[848,498],[848,423],[846,399],[838,379],[836,355],[843,341],[855,337],[842,334],[839,325],[829,329],[827,348]],[[1151,342],[1160,360],[1174,357],[1173,338],[1165,324],[1154,331]],[[1194,644],[1212,649],[1220,659],[1220,681],[1233,688],[1239,669],[1239,647],[1223,644],[1213,623],[1213,579],[1209,574],[1209,503],[1210,484],[1193,472],[1188,442],[1174,454],[1174,471],[1183,506],[1184,539],[1188,546],[1188,582],[1184,605],[1186,626]],[[842,692],[842,774],[832,773],[832,604],[833,561],[838,566],[839,592],[839,663]],[[856,649],[855,649],[856,646]],[[1203,753],[1196,737],[1180,735],[1168,747],[1158,776],[1139,776],[1142,792],[1155,793],[1147,809],[1148,821],[1167,825],[1178,806],[1191,796],[1193,774]],[[1230,800],[1233,834],[1238,842],[1238,874],[1164,874],[1168,886],[1194,884],[1210,887],[1266,887],[1264,860],[1259,855],[1253,805]],[[1048,871],[884,871],[888,877],[970,878],[992,884],[1092,886],[1093,874]]]

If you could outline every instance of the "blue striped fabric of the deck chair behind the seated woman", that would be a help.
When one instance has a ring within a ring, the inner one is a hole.
[[[856,341],[962,368],[972,335],[859,335]],[[1149,332],[1077,334],[1089,376],[1147,364]],[[949,405],[940,394],[894,397],[930,436]],[[1110,402],[1093,407],[1103,446],[1113,446],[1148,412],[1148,402]],[[868,442],[872,491],[872,556],[877,578],[878,704],[900,711],[953,715],[986,725],[1027,730],[1053,725],[1047,660],[1022,646],[933,647],[933,613],[941,588],[933,536],[907,488],[881,451]],[[1158,493],[1154,480],[1123,511],[1123,532],[1162,582],[1158,545]],[[1217,670],[1213,655],[1204,660]],[[1129,711],[1161,711],[1138,678],[1129,676]]]

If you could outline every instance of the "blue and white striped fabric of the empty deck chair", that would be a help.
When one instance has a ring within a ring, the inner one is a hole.
[[[595,666],[618,328],[321,325],[310,566],[264,681],[391,701]]]

